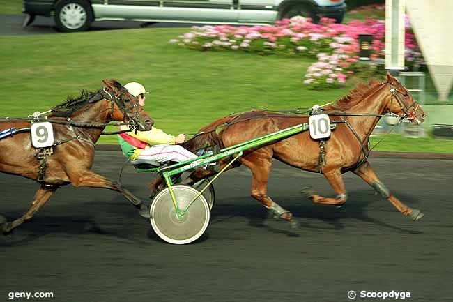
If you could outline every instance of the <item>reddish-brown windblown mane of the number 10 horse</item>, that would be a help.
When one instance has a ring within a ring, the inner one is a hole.
[[[362,102],[364,98],[370,96],[374,91],[376,91],[381,86],[381,82],[376,80],[371,80],[368,84],[359,83],[351,91],[349,91],[347,96],[340,98],[335,102],[335,104],[325,106],[325,110],[348,110],[351,107]]]

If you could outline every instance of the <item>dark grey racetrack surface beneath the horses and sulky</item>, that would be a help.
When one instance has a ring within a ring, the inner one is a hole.
[[[97,151],[93,169],[117,179],[123,161],[119,152]],[[422,209],[420,222],[351,173],[344,177],[346,206],[313,205],[298,190],[303,184],[332,195],[323,176],[276,162],[270,196],[300,227],[268,216],[249,197],[249,171],[240,167],[217,181],[201,240],[172,246],[121,195],[61,188],[33,221],[0,236],[0,301],[9,301],[8,292],[54,292],[30,301],[61,302],[349,301],[350,290],[453,301],[453,160],[370,161],[395,195]],[[145,198],[150,177],[126,167],[123,185]],[[0,213],[22,215],[36,183],[6,174],[0,181]]]

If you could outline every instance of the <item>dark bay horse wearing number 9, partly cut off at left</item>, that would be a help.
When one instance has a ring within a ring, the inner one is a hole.
[[[54,132],[51,151],[32,146],[30,121],[0,121],[0,132],[9,128],[24,130],[0,140],[0,171],[40,182],[30,209],[22,217],[6,222],[0,216],[3,233],[31,219],[57,188],[69,183],[76,187],[108,188],[120,192],[140,209],[142,216],[147,214],[149,217],[148,207],[141,204],[140,199],[118,183],[90,170],[95,143],[109,121],[125,121],[137,130],[150,130],[153,126],[151,117],[127,89],[114,80],[103,82],[104,89],[94,93],[82,92],[79,98],[68,98],[66,103],[49,110],[45,121],[52,123]]]

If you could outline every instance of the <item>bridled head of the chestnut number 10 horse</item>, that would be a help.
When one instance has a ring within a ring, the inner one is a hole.
[[[392,77],[390,73],[387,73],[387,80],[384,84],[390,85],[390,100],[387,103],[387,110],[399,116],[404,116],[417,125],[423,123],[426,114],[412,98],[408,89],[395,77]]]

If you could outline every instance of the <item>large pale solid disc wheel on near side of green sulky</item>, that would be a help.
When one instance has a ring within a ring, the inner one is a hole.
[[[181,211],[199,193],[191,186],[175,185],[171,188]],[[150,213],[154,232],[162,240],[174,244],[197,240],[206,231],[210,217],[208,202],[200,195],[181,219],[178,219],[169,188],[164,188],[154,197]]]

